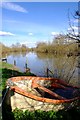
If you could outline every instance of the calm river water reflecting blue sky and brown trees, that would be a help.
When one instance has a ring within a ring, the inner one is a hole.
[[[11,53],[7,55],[7,62],[14,64],[20,71],[25,72],[25,64],[30,68],[30,71],[37,76],[47,76],[47,68],[49,76],[57,77],[65,80],[68,83],[80,86],[78,57],[67,55],[53,55],[44,53]]]

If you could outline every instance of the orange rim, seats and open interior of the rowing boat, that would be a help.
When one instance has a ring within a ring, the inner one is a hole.
[[[70,103],[80,99],[79,87],[69,85],[57,78],[12,77],[7,80],[7,86],[18,94],[46,103]]]

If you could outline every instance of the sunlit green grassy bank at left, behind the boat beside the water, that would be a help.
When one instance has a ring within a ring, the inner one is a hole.
[[[34,74],[27,72],[27,73],[22,73],[19,71],[19,69],[12,65],[8,64],[6,62],[0,62],[0,72],[1,78],[2,78],[2,89],[5,88],[6,86],[6,80],[10,77],[15,77],[15,76],[34,76]]]

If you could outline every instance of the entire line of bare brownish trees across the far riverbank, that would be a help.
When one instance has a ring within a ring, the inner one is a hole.
[[[53,53],[53,54],[70,54],[77,55],[78,54],[78,43],[72,39],[68,38],[66,35],[58,35],[56,36],[52,42],[39,42],[37,43],[36,48],[28,48],[25,44],[12,44],[11,47],[7,47],[4,44],[0,43],[0,47],[2,48],[2,54],[7,52],[27,52],[27,51],[35,51],[41,53]]]

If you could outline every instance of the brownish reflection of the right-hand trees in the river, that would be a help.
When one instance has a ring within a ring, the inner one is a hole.
[[[66,55],[53,54],[37,54],[37,56],[43,59],[45,66],[54,73],[54,77],[65,79],[67,82],[71,79],[73,81],[78,79],[78,62],[76,56],[67,57]]]

